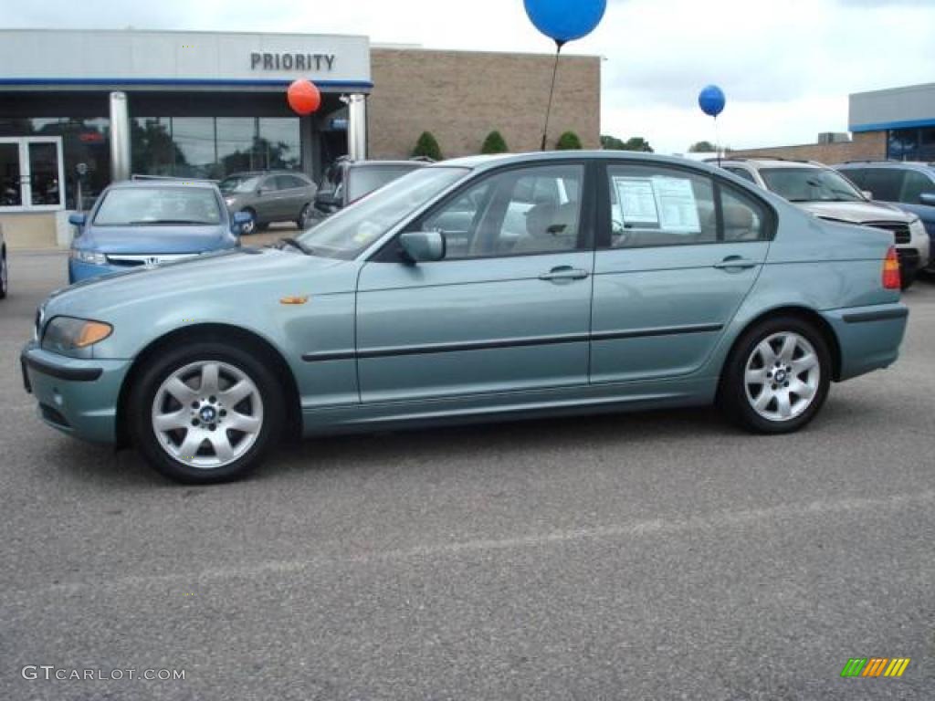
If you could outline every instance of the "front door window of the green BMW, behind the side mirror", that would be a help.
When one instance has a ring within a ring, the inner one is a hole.
[[[470,186],[422,222],[445,235],[446,259],[576,250],[583,165],[508,170]]]

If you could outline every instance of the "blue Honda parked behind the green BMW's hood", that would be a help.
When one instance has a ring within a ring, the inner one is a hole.
[[[143,180],[114,183],[91,211],[68,221],[78,235],[68,257],[68,282],[151,267],[239,245],[239,227],[209,182]]]

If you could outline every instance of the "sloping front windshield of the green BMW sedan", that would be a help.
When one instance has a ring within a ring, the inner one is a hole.
[[[419,168],[380,192],[346,207],[298,237],[314,255],[351,260],[380,236],[470,171],[468,168]]]

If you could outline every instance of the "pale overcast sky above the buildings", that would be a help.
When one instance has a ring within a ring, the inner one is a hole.
[[[552,50],[522,0],[0,0],[6,27],[364,34],[431,49]],[[719,84],[721,142],[846,131],[848,93],[935,81],[935,0],[610,0],[568,52],[603,64],[604,134],[661,152],[713,140],[698,91]],[[2,68],[0,68],[2,70]]]

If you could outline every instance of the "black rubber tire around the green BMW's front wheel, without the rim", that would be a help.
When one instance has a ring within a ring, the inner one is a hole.
[[[279,440],[285,416],[282,388],[263,365],[262,358],[262,355],[216,341],[194,342],[153,357],[137,377],[127,403],[130,435],[147,462],[165,477],[184,484],[240,479],[259,465]],[[263,403],[263,419],[252,446],[234,462],[218,467],[198,467],[182,462],[162,447],[152,425],[152,406],[160,386],[170,375],[186,365],[209,361],[231,365],[252,380]]]

